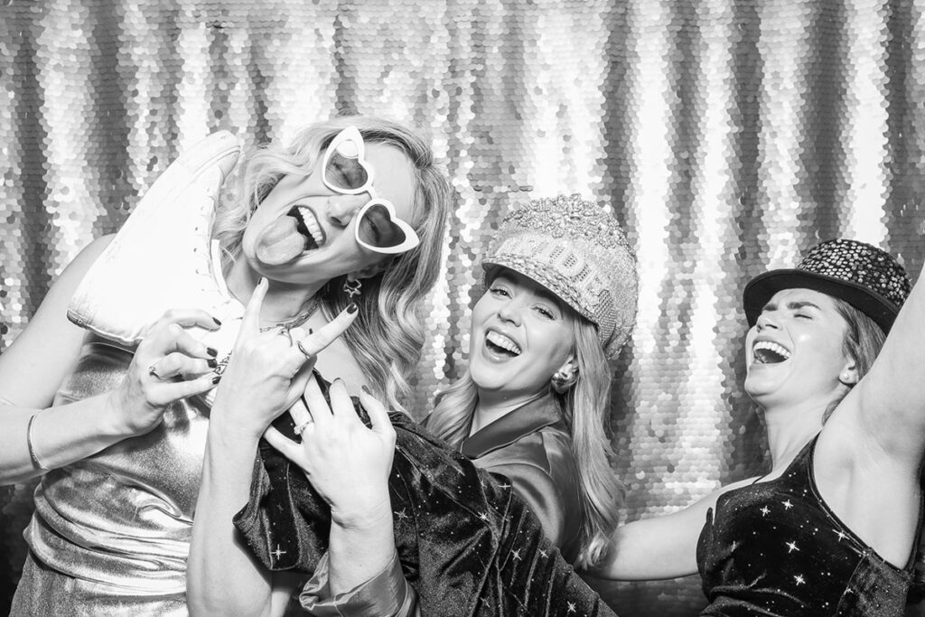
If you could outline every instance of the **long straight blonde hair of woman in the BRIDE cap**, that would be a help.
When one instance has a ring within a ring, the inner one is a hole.
[[[568,427],[575,463],[581,521],[581,546],[575,564],[582,568],[603,561],[611,533],[619,523],[623,486],[611,466],[613,449],[606,426],[611,411],[611,369],[600,346],[598,330],[587,319],[561,304],[572,323],[577,381],[564,394],[549,386]],[[478,388],[468,368],[437,396],[427,427],[454,448],[468,437]]]

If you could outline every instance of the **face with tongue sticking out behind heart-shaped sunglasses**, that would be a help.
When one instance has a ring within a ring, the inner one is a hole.
[[[395,146],[379,142],[366,144],[365,158],[376,174],[376,193],[394,205],[395,216],[413,224],[411,161]],[[370,200],[369,193],[331,191],[322,181],[321,166],[319,156],[310,175],[283,176],[253,212],[241,252],[260,275],[292,284],[324,284],[344,274],[375,271],[386,259],[355,238],[356,215]]]

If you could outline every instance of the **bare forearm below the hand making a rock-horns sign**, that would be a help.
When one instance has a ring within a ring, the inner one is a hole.
[[[270,573],[252,560],[232,524],[248,500],[257,441],[222,426],[214,410],[187,570],[192,614],[273,614]]]

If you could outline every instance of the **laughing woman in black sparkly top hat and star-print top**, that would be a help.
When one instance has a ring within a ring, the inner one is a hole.
[[[745,389],[771,471],[621,527],[598,574],[699,572],[705,615],[902,614],[921,516],[925,283],[910,294],[890,254],[835,240],[753,278],[744,300]]]

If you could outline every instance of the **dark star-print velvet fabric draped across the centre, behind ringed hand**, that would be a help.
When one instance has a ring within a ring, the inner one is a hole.
[[[327,384],[315,377],[327,397]],[[397,435],[388,482],[396,549],[422,614],[614,615],[574,574],[504,476],[478,469],[409,417],[389,417]],[[294,438],[288,414],[275,426]],[[272,571],[312,573],[327,549],[327,504],[297,465],[263,441],[251,499],[234,522]]]

